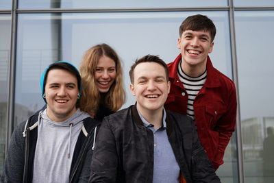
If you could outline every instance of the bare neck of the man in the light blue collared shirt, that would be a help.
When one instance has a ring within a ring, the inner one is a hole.
[[[140,114],[142,114],[142,117],[147,120],[147,122],[151,123],[151,125],[154,125],[155,129],[158,129],[162,126],[163,108],[156,110],[144,110],[140,108],[137,103],[137,109]]]

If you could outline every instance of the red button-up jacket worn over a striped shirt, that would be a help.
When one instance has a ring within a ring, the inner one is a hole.
[[[173,112],[186,114],[188,94],[177,75],[179,54],[169,66],[171,91],[165,108]],[[236,123],[236,89],[234,82],[216,70],[208,57],[207,79],[194,100],[195,121],[201,144],[206,149],[214,168],[223,164],[225,147],[234,132]]]

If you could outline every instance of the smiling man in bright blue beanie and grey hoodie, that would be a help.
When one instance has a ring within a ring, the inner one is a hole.
[[[81,77],[55,62],[41,80],[45,110],[14,130],[1,182],[88,182],[98,121],[77,109]]]

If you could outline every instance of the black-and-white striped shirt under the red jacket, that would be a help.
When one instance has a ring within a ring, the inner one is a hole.
[[[181,61],[182,62],[182,61]],[[193,103],[194,99],[206,82],[206,71],[198,77],[190,77],[184,73],[181,67],[181,62],[178,64],[178,76],[179,80],[182,82],[184,88],[186,88],[186,93],[188,93],[188,108],[186,114],[195,120]]]

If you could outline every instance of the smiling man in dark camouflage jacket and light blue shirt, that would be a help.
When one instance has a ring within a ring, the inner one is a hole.
[[[103,119],[90,182],[220,182],[190,117],[164,110],[169,71],[158,56],[132,65],[136,104]]]

